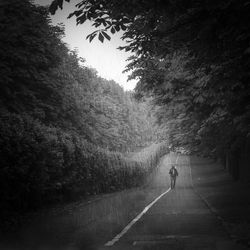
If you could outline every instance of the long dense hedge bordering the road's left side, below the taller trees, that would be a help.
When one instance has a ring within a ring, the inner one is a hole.
[[[2,115],[2,209],[28,211],[51,202],[139,186],[166,152],[164,145],[154,148],[143,161],[125,158],[29,116]]]

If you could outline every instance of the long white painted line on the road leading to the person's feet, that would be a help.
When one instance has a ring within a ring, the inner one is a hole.
[[[119,239],[127,233],[127,231],[166,193],[168,193],[171,189],[169,188],[167,191],[159,195],[154,201],[152,201],[148,206],[146,206],[143,211],[138,214],[119,234],[117,234],[112,240],[108,241],[104,246],[111,247],[113,246]]]

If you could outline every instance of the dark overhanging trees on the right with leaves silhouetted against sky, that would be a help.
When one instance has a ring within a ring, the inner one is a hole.
[[[127,70],[140,79],[137,97],[154,99],[162,139],[250,178],[248,0],[83,0],[76,9],[78,24],[102,27],[90,40],[124,31],[121,49],[134,52]]]

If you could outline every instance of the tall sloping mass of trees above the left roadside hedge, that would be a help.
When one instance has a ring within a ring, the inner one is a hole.
[[[131,93],[85,67],[60,40],[63,29],[48,24],[46,9],[13,1],[2,12],[3,112],[28,114],[115,151],[146,146],[146,136],[153,140],[148,105],[135,103]]]

